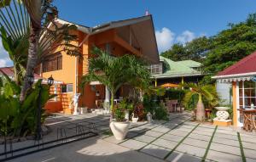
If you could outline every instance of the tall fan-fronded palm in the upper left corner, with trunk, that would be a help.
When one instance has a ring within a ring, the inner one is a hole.
[[[36,65],[44,61],[46,55],[52,54],[57,47],[61,47],[61,51],[69,55],[80,55],[79,47],[69,43],[77,40],[77,36],[68,32],[76,29],[76,26],[56,25],[57,14],[52,0],[3,0],[0,2],[1,37],[17,47],[11,51],[7,50],[9,58],[15,64],[16,83],[20,83],[19,78],[24,78],[20,101],[23,101],[26,90],[31,87],[26,78],[34,74]],[[51,29],[49,29],[50,23]],[[5,37],[3,31],[6,33]],[[61,51],[55,51],[55,53]],[[26,73],[25,76],[24,73]]]

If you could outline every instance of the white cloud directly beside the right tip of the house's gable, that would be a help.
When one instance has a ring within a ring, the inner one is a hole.
[[[160,53],[172,47],[175,34],[168,28],[163,27],[160,31],[155,31],[155,36]]]

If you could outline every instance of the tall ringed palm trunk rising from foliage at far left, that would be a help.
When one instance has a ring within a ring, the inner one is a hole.
[[[38,23],[31,20],[30,36],[29,36],[29,47],[28,47],[28,58],[26,63],[26,74],[24,78],[24,83],[22,90],[20,92],[20,102],[24,101],[26,97],[26,91],[32,85],[29,84],[29,76],[34,75],[34,70],[38,61],[38,41],[39,34],[41,31],[41,26]]]

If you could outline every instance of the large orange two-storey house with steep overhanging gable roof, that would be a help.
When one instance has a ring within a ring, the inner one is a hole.
[[[55,20],[58,25],[73,24],[65,20]],[[76,25],[76,24],[74,24]],[[76,25],[77,30],[71,31],[79,37],[78,42],[72,42],[79,46],[83,59],[72,57],[61,52],[51,54],[45,58],[40,65],[40,75],[44,78],[53,76],[55,84],[51,90],[58,94],[58,98],[49,101],[46,109],[56,111],[63,109],[64,112],[72,114],[69,104],[73,95],[81,93],[79,97],[79,107],[93,109],[96,107],[96,99],[109,102],[108,88],[97,81],[90,82],[84,89],[79,87],[82,75],[86,75],[89,70],[90,51],[92,47],[100,47],[115,57],[127,53],[143,58],[150,64],[159,63],[159,53],[154,35],[154,24],[151,15],[130,19],[113,21],[95,27]],[[127,88],[126,88],[127,89]],[[119,97],[125,97],[129,92],[122,88]],[[118,99],[118,98],[117,98]],[[58,109],[55,109],[55,108]]]

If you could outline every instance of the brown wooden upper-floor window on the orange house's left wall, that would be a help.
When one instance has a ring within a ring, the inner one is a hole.
[[[57,53],[54,56],[49,56],[43,62],[43,72],[54,70],[62,70],[62,55]]]

